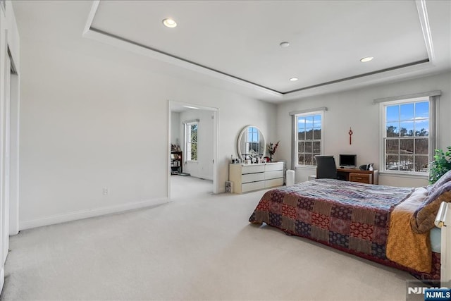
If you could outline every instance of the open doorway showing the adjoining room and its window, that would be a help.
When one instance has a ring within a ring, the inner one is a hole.
[[[196,185],[218,193],[218,109],[169,101],[168,129],[168,199]]]

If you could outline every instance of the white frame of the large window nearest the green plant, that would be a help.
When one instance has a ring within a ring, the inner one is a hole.
[[[415,104],[418,102],[428,102],[428,121],[429,121],[429,129],[428,129],[428,164],[431,163],[433,159],[433,153],[435,149],[435,141],[437,137],[437,128],[435,126],[437,120],[435,116],[435,102],[433,97],[412,97],[412,98],[405,98],[405,99],[395,99],[392,101],[387,102],[380,102],[379,103],[379,109],[380,109],[380,135],[379,135],[379,173],[387,173],[392,175],[400,175],[400,176],[412,176],[412,177],[418,177],[418,178],[428,178],[429,172],[428,171],[396,171],[396,170],[387,170],[385,159],[386,159],[386,138],[387,138],[387,132],[386,132],[386,123],[387,123],[387,114],[386,114],[386,108],[388,106],[393,105],[402,105],[402,104]],[[414,118],[416,116],[414,115]],[[399,122],[402,120],[400,119]],[[400,130],[400,129],[399,129]],[[415,139],[416,136],[404,136],[404,139]],[[399,136],[400,139],[402,139],[402,136]],[[425,138],[422,138],[425,139]],[[398,155],[400,155],[400,152],[398,152]],[[415,152],[413,153],[415,156]]]

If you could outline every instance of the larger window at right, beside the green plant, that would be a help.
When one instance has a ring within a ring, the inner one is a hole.
[[[383,166],[394,173],[428,174],[432,120],[428,97],[381,104],[383,108]]]

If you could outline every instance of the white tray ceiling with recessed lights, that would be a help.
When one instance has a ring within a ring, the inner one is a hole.
[[[23,1],[15,11],[19,23],[39,18],[29,16],[39,8],[49,18],[60,11],[66,22],[55,30],[82,20],[83,37],[140,54],[166,74],[268,102],[451,69],[451,1],[84,1],[85,9],[70,8],[80,2],[32,8]],[[163,26],[164,18],[178,26]],[[366,56],[374,59],[362,63]]]

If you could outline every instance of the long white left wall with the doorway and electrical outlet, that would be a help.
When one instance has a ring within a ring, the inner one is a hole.
[[[241,128],[274,135],[273,104],[156,73],[148,59],[83,39],[80,20],[59,32],[52,18],[68,16],[35,18],[45,20],[21,32],[22,229],[166,202],[168,99],[218,108],[220,191]]]

